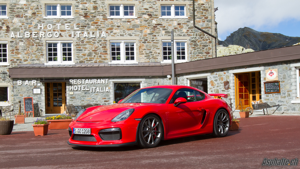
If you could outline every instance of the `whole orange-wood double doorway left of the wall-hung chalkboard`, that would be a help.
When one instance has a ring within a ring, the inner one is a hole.
[[[251,102],[262,99],[260,71],[235,74],[235,104],[238,110],[252,107]]]

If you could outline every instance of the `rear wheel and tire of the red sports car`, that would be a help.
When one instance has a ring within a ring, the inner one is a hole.
[[[214,128],[212,135],[214,137],[225,137],[228,134],[230,125],[229,114],[226,110],[220,109],[214,117]]]

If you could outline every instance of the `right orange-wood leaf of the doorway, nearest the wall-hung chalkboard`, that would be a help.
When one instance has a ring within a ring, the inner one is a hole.
[[[253,101],[259,101],[262,99],[262,86],[261,86],[261,74],[260,72],[250,72],[250,104]],[[252,107],[252,104],[251,106]]]

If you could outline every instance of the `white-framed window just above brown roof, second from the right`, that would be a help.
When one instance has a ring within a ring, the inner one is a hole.
[[[135,63],[135,41],[111,41],[111,62]]]

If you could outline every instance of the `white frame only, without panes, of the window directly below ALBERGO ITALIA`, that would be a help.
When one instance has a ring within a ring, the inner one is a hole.
[[[74,47],[73,41],[46,41],[46,57],[48,60],[48,43],[57,43],[57,61],[48,61],[45,65],[73,65],[74,63]],[[71,50],[72,50],[72,61],[63,61],[62,60],[62,43],[71,43]]]

